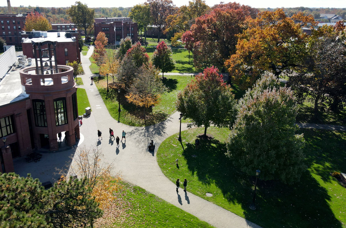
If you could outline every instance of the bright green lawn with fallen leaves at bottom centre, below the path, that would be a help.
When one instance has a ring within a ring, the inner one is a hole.
[[[213,227],[138,186],[124,185],[125,188],[117,194],[130,205],[126,211],[129,216],[123,222],[114,224],[115,227]]]

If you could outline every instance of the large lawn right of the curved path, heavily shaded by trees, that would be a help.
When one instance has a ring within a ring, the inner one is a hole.
[[[346,227],[345,188],[329,174],[346,171],[346,132],[300,130],[307,142],[307,171],[294,185],[260,180],[256,211],[249,209],[254,177],[239,172],[225,156],[228,132],[210,127],[207,133],[215,139],[201,140],[198,151],[194,140],[203,129],[183,131],[182,145],[177,141],[178,134],[168,137],[157,151],[162,172],[173,183],[186,178],[189,192],[265,228]],[[179,168],[175,165],[177,158]],[[207,192],[213,196],[206,197]]]

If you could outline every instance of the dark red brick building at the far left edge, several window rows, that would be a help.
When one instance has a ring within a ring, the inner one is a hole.
[[[27,14],[0,14],[0,37],[7,45],[21,46],[21,33],[24,30]]]

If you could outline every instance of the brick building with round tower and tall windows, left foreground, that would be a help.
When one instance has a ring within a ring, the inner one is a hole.
[[[41,44],[47,42],[54,44]],[[6,137],[6,146],[1,146],[0,173],[15,171],[12,160],[34,150],[57,151],[59,132],[65,132],[67,146],[80,138],[73,68],[51,64],[42,73],[33,61],[1,77],[0,139]]]

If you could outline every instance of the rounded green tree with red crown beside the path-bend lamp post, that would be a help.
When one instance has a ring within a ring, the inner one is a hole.
[[[175,106],[185,118],[192,119],[191,125],[204,125],[204,136],[211,124],[231,126],[236,115],[234,94],[214,66],[204,69],[177,95]]]

